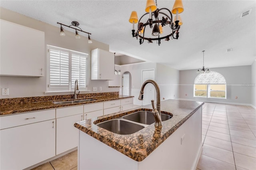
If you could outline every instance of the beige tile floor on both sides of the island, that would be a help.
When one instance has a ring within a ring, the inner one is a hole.
[[[255,109],[205,103],[202,143],[197,170],[256,170]],[[33,170],[77,170],[77,150]]]

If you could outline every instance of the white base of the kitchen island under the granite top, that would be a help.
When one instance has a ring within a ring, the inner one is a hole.
[[[195,170],[202,150],[201,138],[202,107],[141,162],[80,131],[78,169]]]

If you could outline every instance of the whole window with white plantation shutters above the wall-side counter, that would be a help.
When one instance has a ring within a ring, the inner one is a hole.
[[[75,80],[79,90],[87,90],[88,54],[48,45],[47,91],[72,91]]]

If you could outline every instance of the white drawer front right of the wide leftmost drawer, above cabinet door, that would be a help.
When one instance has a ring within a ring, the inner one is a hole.
[[[84,113],[84,106],[74,106],[56,109],[56,118],[78,115]]]

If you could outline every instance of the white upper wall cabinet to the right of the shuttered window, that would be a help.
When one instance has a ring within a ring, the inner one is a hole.
[[[114,53],[94,49],[91,53],[91,80],[114,80]]]

